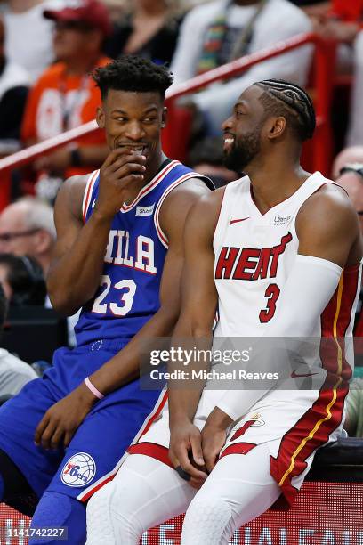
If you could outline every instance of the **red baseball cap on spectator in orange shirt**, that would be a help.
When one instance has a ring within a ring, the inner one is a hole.
[[[90,27],[99,28],[104,36],[112,32],[112,24],[109,12],[104,4],[98,0],[73,0],[71,5],[61,10],[45,10],[45,19],[59,20],[62,22],[85,22]]]

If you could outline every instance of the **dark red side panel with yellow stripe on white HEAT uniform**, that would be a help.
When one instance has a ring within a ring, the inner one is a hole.
[[[329,435],[343,418],[344,399],[348,393],[347,379],[351,367],[345,359],[343,337],[351,322],[351,310],[358,289],[359,266],[343,272],[338,288],[321,316],[321,334],[331,338],[320,356],[327,378],[318,399],[303,417],[284,435],[277,458],[271,457],[271,475],[281,486],[288,503],[294,502],[297,489],[291,483],[303,473],[306,460],[317,448],[327,443]],[[343,287],[342,287],[343,285]]]

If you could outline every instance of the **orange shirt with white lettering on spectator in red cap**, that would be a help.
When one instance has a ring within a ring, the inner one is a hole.
[[[109,62],[109,58],[101,57],[97,66],[105,66]],[[91,77],[68,76],[65,63],[57,62],[44,70],[28,95],[21,140],[27,142],[34,139],[42,142],[92,121],[100,104],[101,93]],[[77,140],[79,145],[104,142],[105,137],[101,132],[82,136]],[[91,170],[92,167],[71,167],[66,176],[82,175]]]

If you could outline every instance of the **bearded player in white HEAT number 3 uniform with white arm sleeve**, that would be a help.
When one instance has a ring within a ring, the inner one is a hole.
[[[174,338],[212,339],[217,305],[215,337],[331,338],[311,372],[321,388],[170,387],[114,481],[90,500],[87,544],[137,545],[184,511],[182,545],[226,544],[281,492],[291,504],[317,449],[340,435],[351,377],[342,338],[351,336],[362,246],[346,193],[300,166],[314,128],[296,85],[268,80],[241,94],[223,125],[224,151],[246,176],[190,211]],[[297,367],[291,377],[306,375]]]

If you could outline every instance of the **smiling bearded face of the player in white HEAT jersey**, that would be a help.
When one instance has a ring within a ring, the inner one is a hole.
[[[243,171],[262,148],[262,128],[266,121],[259,97],[262,90],[252,85],[242,93],[233,113],[222,125],[224,164],[230,170]]]

